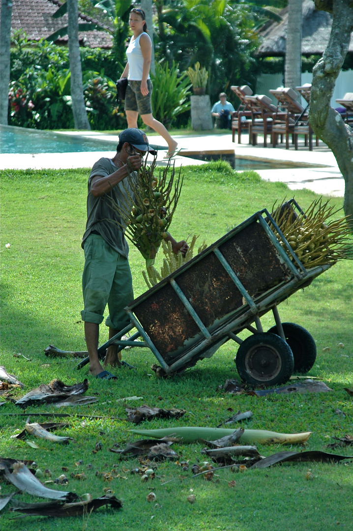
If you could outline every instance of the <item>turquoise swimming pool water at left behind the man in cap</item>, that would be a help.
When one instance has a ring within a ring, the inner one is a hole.
[[[0,153],[76,153],[115,150],[116,139],[98,140],[37,129],[0,125]]]

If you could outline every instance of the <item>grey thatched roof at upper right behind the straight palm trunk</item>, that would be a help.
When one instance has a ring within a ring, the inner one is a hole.
[[[282,22],[268,22],[260,30],[263,42],[257,50],[260,56],[279,56],[286,53],[288,26],[288,7],[280,12]],[[317,11],[313,0],[303,0],[302,54],[321,55],[329,42],[332,15],[326,11]],[[353,52],[351,36],[349,52]]]

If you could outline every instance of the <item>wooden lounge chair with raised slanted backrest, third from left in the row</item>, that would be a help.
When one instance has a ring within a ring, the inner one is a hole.
[[[281,114],[281,119],[274,118],[272,124],[272,146],[275,148],[278,135],[286,136],[286,149],[289,149],[289,137],[292,136],[294,147],[298,149],[299,135],[304,135],[305,146],[309,146],[309,151],[313,150],[313,130],[309,125],[307,107],[304,108],[297,101],[297,93],[291,88],[278,88],[270,90],[270,93],[278,100],[277,109]],[[283,121],[282,113],[287,113]],[[316,137],[316,145],[318,138]]]

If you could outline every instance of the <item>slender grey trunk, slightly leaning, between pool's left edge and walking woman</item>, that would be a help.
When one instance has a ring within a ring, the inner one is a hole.
[[[71,98],[72,112],[74,114],[75,129],[90,130],[87,110],[84,105],[82,67],[79,44],[79,7],[78,0],[67,2],[68,13],[68,52],[70,56],[71,71]]]

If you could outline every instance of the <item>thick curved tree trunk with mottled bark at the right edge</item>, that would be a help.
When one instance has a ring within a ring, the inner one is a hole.
[[[353,6],[347,0],[315,0],[315,5],[326,11],[331,11],[333,6],[333,21],[329,44],[313,70],[309,123],[314,133],[332,150],[345,179],[343,208],[346,216],[352,216],[353,228],[353,135],[341,115],[330,106],[353,30]]]

